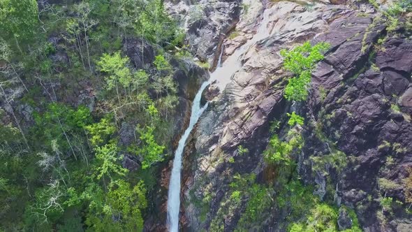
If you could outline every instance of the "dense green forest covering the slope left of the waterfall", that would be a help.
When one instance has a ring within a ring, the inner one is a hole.
[[[157,182],[148,167],[163,160],[177,106],[165,52],[188,57],[184,31],[161,0],[50,2],[0,0],[1,85],[11,95],[0,109],[0,231],[141,231],[145,188]],[[131,66],[120,52],[131,38],[159,48],[161,71]],[[146,169],[133,175],[121,165],[124,122],[141,125],[135,151]]]

